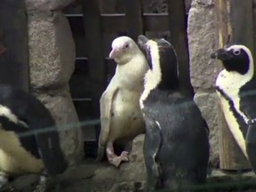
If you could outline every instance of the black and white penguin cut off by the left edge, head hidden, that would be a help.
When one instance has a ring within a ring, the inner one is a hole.
[[[0,85],[0,188],[10,177],[33,173],[44,191],[47,178],[57,179],[67,166],[49,110],[28,92]]]

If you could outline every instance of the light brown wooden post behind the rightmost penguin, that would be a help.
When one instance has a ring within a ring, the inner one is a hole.
[[[231,26],[228,23],[228,1],[216,0],[215,1],[215,15],[216,15],[216,28],[218,31],[218,44],[223,47],[228,40],[228,35],[231,34]],[[234,31],[233,31],[234,32]],[[233,34],[232,34],[233,36]],[[218,71],[222,70],[219,65]],[[219,124],[220,124],[220,169],[225,171],[234,170],[247,170],[250,169],[246,157],[244,156],[241,148],[238,147],[236,140],[228,128],[224,114],[219,105]]]

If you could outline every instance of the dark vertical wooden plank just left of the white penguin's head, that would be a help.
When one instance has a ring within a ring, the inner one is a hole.
[[[92,117],[100,117],[100,96],[106,87],[106,65],[104,42],[101,30],[99,0],[82,0],[84,14],[84,44],[88,57],[89,78],[92,93]],[[97,125],[96,139],[99,138],[100,126]]]

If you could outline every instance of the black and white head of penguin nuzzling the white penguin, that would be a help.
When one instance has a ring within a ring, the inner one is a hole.
[[[145,84],[154,84],[152,88],[173,89],[178,86],[178,61],[176,52],[164,38],[148,39],[138,36],[140,50],[148,60],[148,73]]]

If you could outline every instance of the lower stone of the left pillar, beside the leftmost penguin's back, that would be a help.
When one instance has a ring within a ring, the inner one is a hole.
[[[69,164],[75,164],[84,156],[84,138],[68,88],[35,94],[51,111],[60,129],[60,144],[65,156]]]

